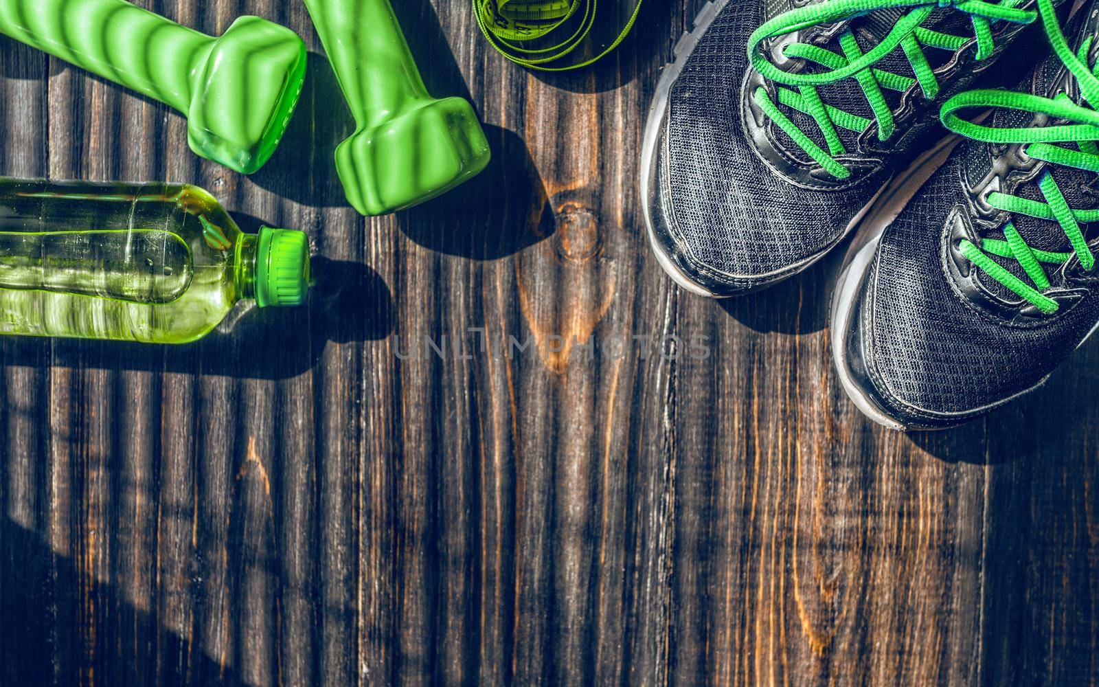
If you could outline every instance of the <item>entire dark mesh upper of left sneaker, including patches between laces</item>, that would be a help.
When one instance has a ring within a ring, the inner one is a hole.
[[[702,36],[671,87],[668,103],[666,151],[658,155],[667,170],[668,191],[664,212],[673,232],[681,239],[691,262],[731,275],[757,276],[779,270],[817,256],[831,247],[851,221],[873,198],[888,176],[921,147],[939,136],[937,121],[920,124],[920,135],[906,138],[906,148],[890,153],[886,167],[842,190],[801,188],[777,176],[758,157],[742,126],[742,90],[748,70],[746,41],[764,20],[790,9],[789,0],[732,0]],[[946,29],[962,35],[968,20],[953,10],[941,10]],[[861,43],[869,46],[895,18],[872,14],[855,26]],[[875,24],[874,22],[877,22]],[[880,24],[880,25],[878,25]],[[999,36],[1003,29],[993,24]],[[972,31],[972,29],[969,30]],[[880,36],[879,36],[880,37]],[[1007,44],[1003,41],[1000,48]],[[912,76],[900,49],[879,66]],[[929,49],[933,60],[948,53]],[[944,84],[940,100],[968,86]],[[869,106],[854,79],[820,89],[822,99],[848,112],[870,118]],[[896,93],[886,90],[890,102]],[[782,106],[801,131],[823,145],[817,124],[807,115]],[[855,135],[840,130],[848,148]],[[898,137],[898,136],[895,136]],[[776,143],[796,159],[809,157],[785,133]]]

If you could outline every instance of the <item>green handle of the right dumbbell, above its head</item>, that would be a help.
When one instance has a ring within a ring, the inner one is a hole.
[[[360,130],[417,100],[432,100],[389,0],[306,0]]]

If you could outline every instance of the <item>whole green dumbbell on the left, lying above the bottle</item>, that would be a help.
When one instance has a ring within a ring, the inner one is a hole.
[[[244,174],[275,152],[306,77],[306,44],[258,16],[213,38],[124,0],[0,0],[0,33],[176,108],[192,151]]]

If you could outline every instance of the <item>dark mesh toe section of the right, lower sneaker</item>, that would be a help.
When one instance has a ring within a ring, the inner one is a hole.
[[[876,286],[875,300],[864,300],[872,318],[867,345],[889,395],[940,412],[965,412],[1029,389],[1099,318],[1099,298],[1090,293],[1039,328],[1009,326],[986,319],[951,287],[940,239],[964,199],[964,158],[984,147],[961,146],[935,173],[885,232],[867,279]]]

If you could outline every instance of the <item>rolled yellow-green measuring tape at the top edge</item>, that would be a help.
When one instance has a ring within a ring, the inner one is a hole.
[[[622,2],[626,3],[624,8]],[[642,0],[603,0],[602,12],[598,0],[473,0],[473,3],[481,32],[504,57],[531,69],[567,71],[602,59],[618,47],[633,29]],[[600,42],[592,31],[606,22],[607,5],[615,3],[619,7],[613,9],[618,10],[621,27]],[[624,18],[623,9],[629,11]]]

